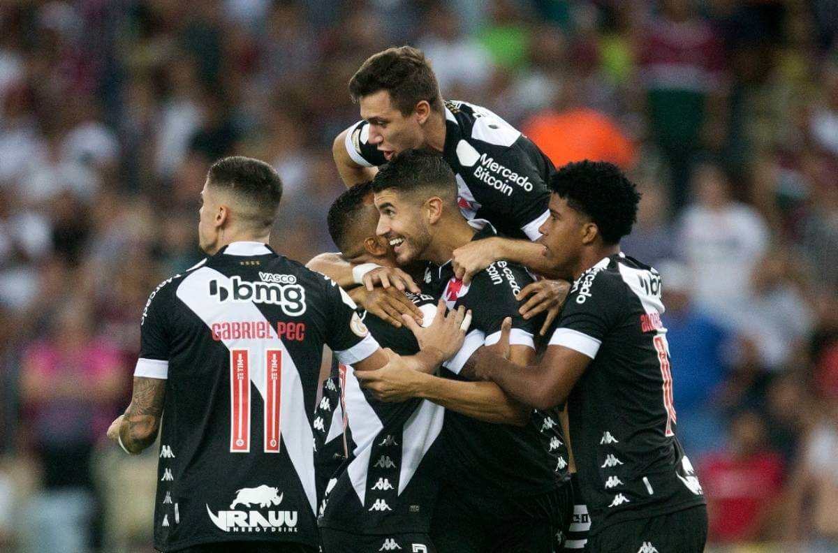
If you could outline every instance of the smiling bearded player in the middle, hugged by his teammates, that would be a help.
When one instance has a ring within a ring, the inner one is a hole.
[[[444,365],[444,375],[464,380],[461,372],[473,352],[498,341],[504,318],[511,321],[510,359],[535,359],[534,320],[517,313],[516,293],[531,281],[525,269],[499,261],[479,271],[469,284],[453,274],[454,249],[486,240],[496,230],[485,220],[466,220],[457,204],[452,169],[437,155],[407,150],[375,175],[378,234],[393,247],[396,261],[428,261],[423,285],[441,294],[449,308],[468,306],[473,329],[463,348]],[[416,325],[405,318],[406,325]],[[427,397],[438,377],[413,371],[397,395],[378,371],[358,373],[370,390],[387,399]],[[552,551],[556,530],[564,530],[571,509],[566,484],[567,452],[555,409],[534,411],[526,426],[491,425],[458,413],[445,419],[446,486],[434,513],[432,539],[439,551]]]

